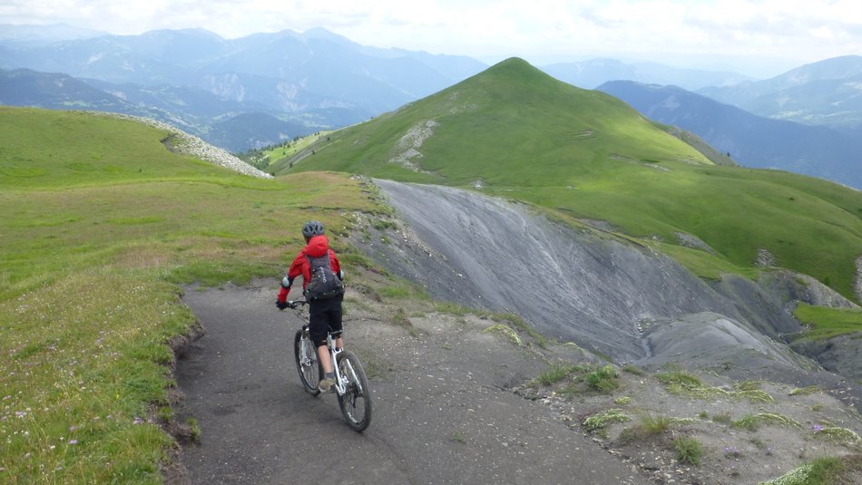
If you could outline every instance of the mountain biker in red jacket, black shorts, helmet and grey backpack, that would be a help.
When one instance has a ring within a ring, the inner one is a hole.
[[[311,260],[309,257],[317,258],[328,255],[329,267],[338,276],[338,279],[344,280],[344,273],[341,271],[338,257],[335,251],[329,248],[329,241],[323,233],[323,224],[317,220],[311,220],[302,226],[302,236],[305,237],[306,247],[299,251],[288,269],[288,276],[281,280],[281,289],[276,300],[276,306],[279,307],[279,310],[288,307],[288,294],[294,278],[302,276],[303,291],[309,285],[309,281],[311,281]],[[331,298],[314,299],[309,302],[309,336],[311,342],[318,347],[318,358],[323,367],[324,376],[318,383],[318,389],[322,393],[328,393],[335,383],[335,371],[327,349],[327,333],[331,333],[336,338],[338,348],[344,348],[341,340],[341,303],[343,299],[344,295],[339,294]]]

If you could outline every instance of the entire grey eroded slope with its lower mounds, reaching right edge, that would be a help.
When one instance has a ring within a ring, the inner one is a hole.
[[[850,367],[858,367],[862,339],[805,355],[784,344],[784,335],[802,329],[793,316],[798,301],[854,306],[814,278],[776,268],[759,281],[725,275],[706,283],[649,247],[555,223],[524,205],[461,189],[375,183],[406,224],[395,234],[368,224],[372,237],[353,242],[436,299],[520,315],[544,335],[617,364],[678,363],[737,379],[818,384],[862,403],[862,388],[846,387],[845,377],[812,360],[857,375]]]

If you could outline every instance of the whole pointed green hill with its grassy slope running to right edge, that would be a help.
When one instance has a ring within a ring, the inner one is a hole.
[[[778,266],[857,299],[862,193],[775,170],[714,165],[628,105],[518,59],[329,133],[269,168],[321,169],[465,187],[481,181],[486,192],[607,220],[650,244],[663,241],[701,276],[752,275],[762,248]],[[702,239],[715,254],[676,246],[678,233]]]

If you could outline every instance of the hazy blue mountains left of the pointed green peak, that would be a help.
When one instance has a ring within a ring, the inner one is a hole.
[[[486,67],[461,56],[365,47],[324,29],[226,40],[203,30],[100,35],[9,27],[17,28],[0,36],[0,69],[7,71],[0,102],[149,115],[229,150],[367,120]],[[51,40],[64,34],[73,38]],[[37,77],[20,92],[21,82]],[[215,126],[232,119],[232,128],[250,136]]]

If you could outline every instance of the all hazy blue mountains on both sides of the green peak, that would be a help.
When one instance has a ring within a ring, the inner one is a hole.
[[[324,29],[227,40],[204,30],[112,35],[0,25],[0,103],[152,117],[231,151],[366,121],[486,67],[463,56],[367,47]],[[854,155],[862,139],[862,57],[812,63],[765,81],[611,59],[542,69],[584,89],[603,84],[612,92],[605,83],[621,80],[669,86],[636,93],[618,85],[614,95],[742,164],[860,186],[852,173],[862,172]],[[691,97],[695,92],[725,106]],[[679,104],[673,110],[652,104],[671,95]]]

